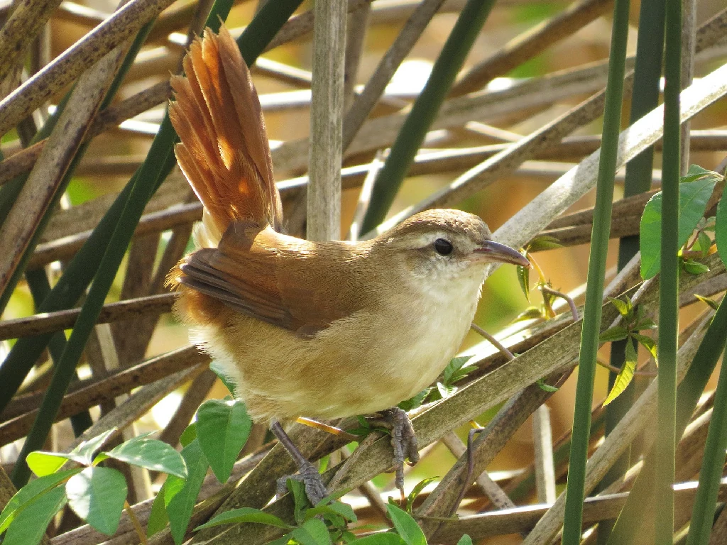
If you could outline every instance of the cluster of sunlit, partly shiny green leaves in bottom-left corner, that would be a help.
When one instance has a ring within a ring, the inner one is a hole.
[[[29,453],[28,465],[39,478],[20,488],[0,513],[0,533],[7,530],[3,543],[39,543],[52,517],[66,503],[96,530],[109,536],[115,533],[126,501],[126,481],[116,469],[98,465],[106,459],[173,473],[182,481],[187,477],[180,453],[148,435],[98,453],[117,431],[92,437],[67,454]],[[69,461],[76,467],[61,471]]]

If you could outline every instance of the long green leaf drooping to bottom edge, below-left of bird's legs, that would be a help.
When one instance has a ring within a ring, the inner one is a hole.
[[[166,503],[166,513],[169,515],[169,527],[172,530],[174,543],[177,545],[180,545],[184,541],[199,489],[202,486],[204,475],[209,467],[209,462],[202,452],[199,440],[193,440],[192,443],[182,448],[182,458],[184,458],[185,464],[187,464],[187,480],[182,488]],[[169,477],[166,477],[166,483],[170,481],[173,483],[176,479],[179,479],[179,477],[169,475]],[[164,483],[165,487],[166,483]],[[166,496],[164,501],[167,501]]]

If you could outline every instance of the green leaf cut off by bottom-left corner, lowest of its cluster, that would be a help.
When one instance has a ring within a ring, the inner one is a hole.
[[[17,513],[15,520],[7,529],[3,545],[36,545],[40,543],[46,528],[65,502],[63,486],[51,488],[28,502],[25,508]]]

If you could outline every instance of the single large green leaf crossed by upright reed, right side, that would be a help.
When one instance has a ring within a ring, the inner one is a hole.
[[[707,206],[716,182],[713,177],[704,177],[679,185],[679,246],[686,243],[704,215],[704,207]],[[659,192],[646,203],[639,227],[641,277],[645,280],[659,272],[661,219],[662,193]]]

